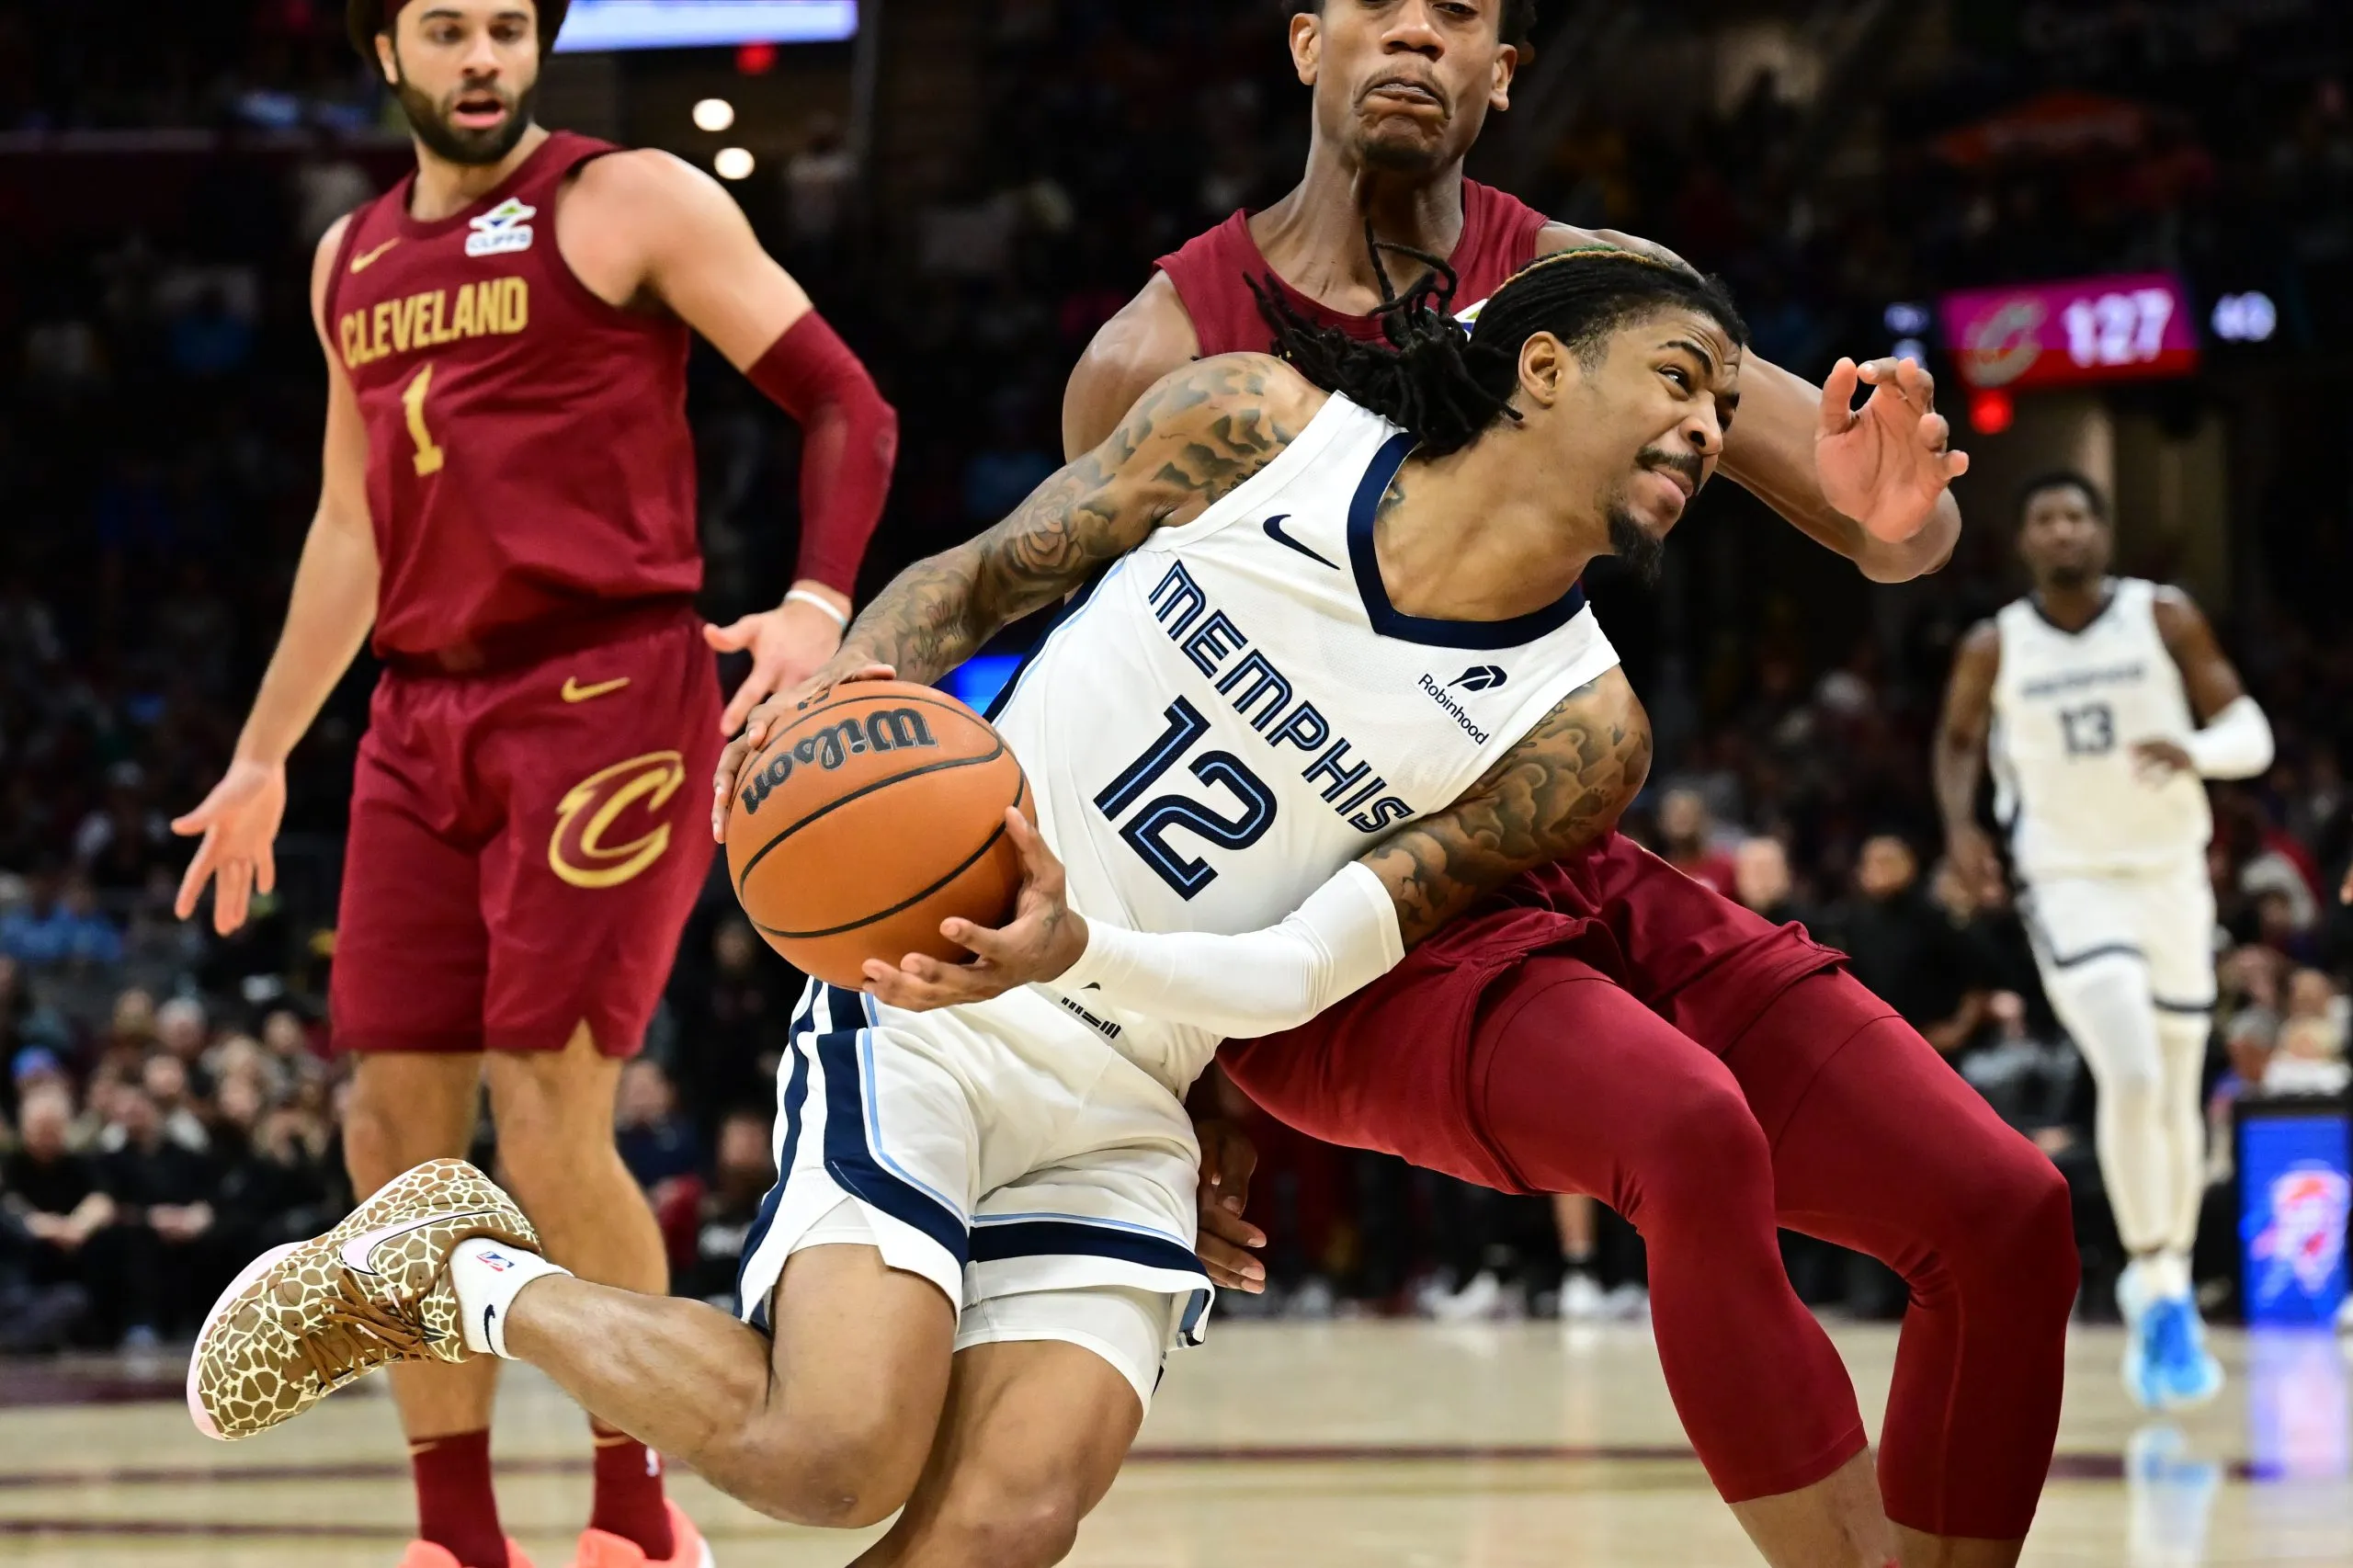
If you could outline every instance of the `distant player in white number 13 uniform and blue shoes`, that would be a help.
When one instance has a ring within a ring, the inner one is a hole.
[[[2202,779],[2271,768],[2271,723],[2179,589],[2111,577],[2108,504],[2080,473],[2021,494],[2033,593],[1962,640],[1937,732],[1937,798],[1965,876],[1995,866],[1995,819],[2024,883],[2042,989],[2099,1085],[2099,1168],[2132,1262],[2125,1389],[2144,1408],[2221,1387],[2191,1300],[2205,1194],[2198,1104],[2214,1008],[2214,890]]]

